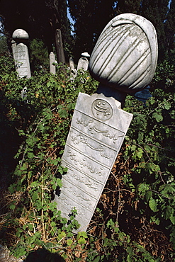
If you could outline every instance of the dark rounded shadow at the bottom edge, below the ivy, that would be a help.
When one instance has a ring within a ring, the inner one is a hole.
[[[24,262],[64,262],[59,254],[52,254],[46,249],[38,249],[30,252]]]

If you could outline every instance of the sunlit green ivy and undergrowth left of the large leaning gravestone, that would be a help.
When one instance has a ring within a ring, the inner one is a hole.
[[[72,210],[67,224],[52,203],[52,195],[57,187],[61,188],[60,178],[67,171],[60,161],[79,90],[94,91],[96,81],[81,72],[74,82],[69,81],[68,72],[17,79],[13,72],[7,74],[9,69],[9,64],[1,69],[1,106],[6,105],[10,125],[15,127],[18,123],[18,136],[23,141],[15,156],[18,164],[9,186],[11,199],[4,224],[7,236],[13,228],[11,251],[15,256],[23,256],[36,245],[47,247],[47,239],[72,246],[72,229],[79,227],[74,220],[76,210]],[[25,86],[28,93],[26,98],[21,98]],[[86,238],[85,232],[79,234],[77,244],[84,245]]]

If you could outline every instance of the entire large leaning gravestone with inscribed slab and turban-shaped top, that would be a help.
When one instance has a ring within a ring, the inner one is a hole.
[[[77,209],[78,231],[89,226],[132,120],[118,100],[149,84],[156,64],[157,35],[141,16],[116,16],[96,42],[89,70],[101,84],[92,96],[79,93],[62,156],[68,171],[55,195],[62,217],[69,219],[71,210]]]

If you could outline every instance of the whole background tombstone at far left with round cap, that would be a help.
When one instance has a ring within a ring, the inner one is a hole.
[[[28,33],[23,29],[17,29],[13,32],[12,38],[13,58],[15,60],[18,77],[22,78],[23,76],[27,76],[30,78],[30,62],[28,57],[28,47],[26,45],[29,38]]]

